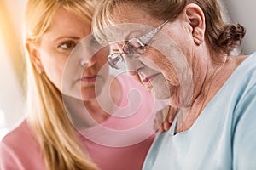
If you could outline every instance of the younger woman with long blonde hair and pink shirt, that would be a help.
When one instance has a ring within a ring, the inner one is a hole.
[[[1,142],[1,169],[142,168],[154,139],[151,115],[157,107],[137,82],[109,77],[108,47],[92,53],[95,3],[28,0],[27,116]],[[76,59],[84,44],[89,49]],[[139,93],[132,94],[134,89]],[[110,112],[98,99],[108,95]]]

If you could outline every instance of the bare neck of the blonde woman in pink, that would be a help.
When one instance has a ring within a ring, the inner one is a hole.
[[[109,82],[109,81],[108,81]],[[119,82],[113,79],[102,88],[102,93],[96,99],[82,101],[72,97],[65,97],[67,110],[76,127],[84,128],[104,122],[113,113],[114,105],[117,105],[121,96]]]

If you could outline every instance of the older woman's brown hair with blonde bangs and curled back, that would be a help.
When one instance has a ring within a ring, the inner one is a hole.
[[[159,20],[170,21],[176,20],[187,4],[197,4],[206,17],[207,44],[215,52],[229,54],[241,44],[246,32],[239,24],[224,23],[217,0],[108,0],[102,1],[96,9],[93,30],[96,31],[97,40],[106,41],[102,30],[114,25],[111,12],[113,8],[118,8],[120,3],[139,8]],[[105,43],[104,41],[102,43]]]

